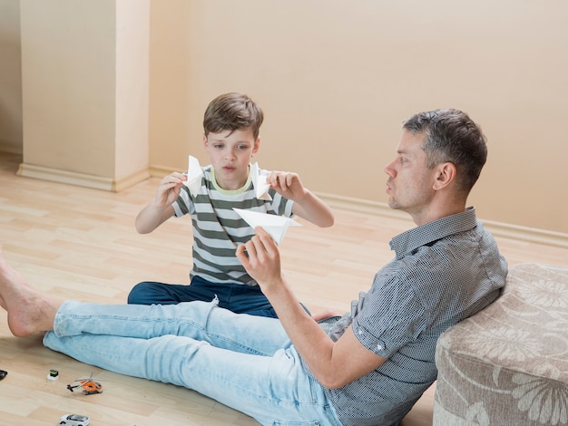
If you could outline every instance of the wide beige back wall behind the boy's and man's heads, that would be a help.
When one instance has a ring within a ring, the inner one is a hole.
[[[400,121],[455,107],[489,141],[479,217],[568,234],[567,16],[564,0],[152,0],[149,165],[207,161],[207,103],[247,92],[266,113],[261,167],[384,203]]]

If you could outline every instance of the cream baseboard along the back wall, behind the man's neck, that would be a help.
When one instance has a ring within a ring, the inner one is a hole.
[[[378,215],[387,218],[406,219],[409,223],[409,227],[413,226],[412,220],[406,213],[389,208],[387,203],[325,193],[318,193],[318,197],[326,201],[332,208],[341,208],[348,211]],[[568,248],[568,234],[563,234],[562,232],[554,232],[540,228],[521,227],[508,223],[496,222],[494,220],[485,220],[484,218],[480,219],[483,221],[485,228],[495,235],[495,237],[511,238],[525,242],[544,244],[546,246]]]

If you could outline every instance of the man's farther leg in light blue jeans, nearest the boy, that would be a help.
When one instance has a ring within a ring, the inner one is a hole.
[[[53,324],[54,334],[106,334],[152,339],[179,335],[231,351],[271,355],[289,347],[289,337],[277,319],[237,315],[217,301],[178,305],[100,305],[66,301]]]

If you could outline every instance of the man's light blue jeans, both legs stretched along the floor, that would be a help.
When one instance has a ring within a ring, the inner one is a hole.
[[[115,373],[184,386],[264,425],[341,424],[278,319],[237,315],[216,300],[65,302],[44,345]]]

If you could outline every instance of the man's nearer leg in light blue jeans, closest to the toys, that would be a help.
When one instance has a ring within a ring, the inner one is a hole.
[[[44,344],[105,370],[184,386],[261,424],[340,424],[293,347],[262,356],[174,335],[141,339],[53,333],[45,335]]]

